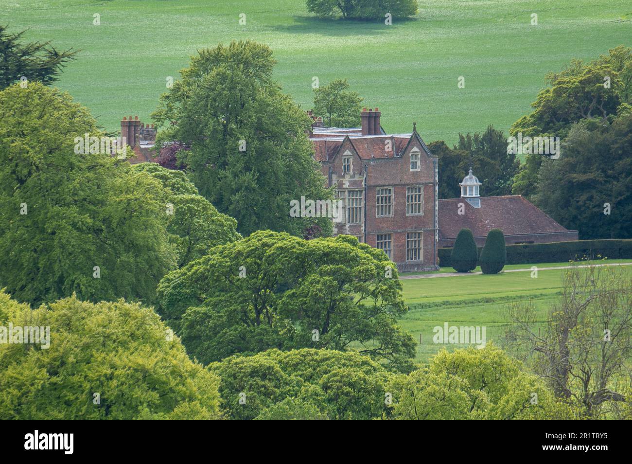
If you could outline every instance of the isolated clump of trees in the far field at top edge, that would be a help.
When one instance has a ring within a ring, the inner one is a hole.
[[[417,14],[416,0],[307,0],[307,11],[321,18],[377,20],[387,13],[393,18]]]

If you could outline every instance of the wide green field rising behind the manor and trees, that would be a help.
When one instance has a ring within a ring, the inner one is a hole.
[[[107,130],[124,115],[145,122],[188,57],[233,39],[269,44],[276,80],[305,109],[312,78],[347,78],[379,107],[389,132],[412,122],[430,142],[459,132],[507,130],[529,111],[544,75],[572,58],[632,44],[626,0],[429,0],[393,24],[318,20],[303,0],[2,0],[0,22],[28,40],[82,49],[58,87]],[[240,25],[240,13],[246,25]],[[531,25],[531,15],[538,25]],[[94,15],[100,25],[93,25]],[[458,89],[459,76],[465,89]]]

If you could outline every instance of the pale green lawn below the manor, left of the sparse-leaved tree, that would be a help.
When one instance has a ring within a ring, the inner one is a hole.
[[[542,268],[549,264],[534,266]],[[623,266],[623,269],[632,272],[632,266]],[[449,326],[485,326],[487,341],[502,346],[509,322],[507,307],[514,302],[532,300],[538,310],[538,321],[544,326],[548,308],[559,297],[564,272],[564,269],[540,269],[537,278],[532,278],[531,272],[507,272],[406,279],[402,284],[410,312],[399,325],[418,342],[421,335],[421,343],[416,348],[416,362],[420,363],[427,362],[428,357],[444,346],[447,350],[465,347],[433,343],[434,327],[443,327],[444,322]]]

